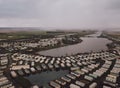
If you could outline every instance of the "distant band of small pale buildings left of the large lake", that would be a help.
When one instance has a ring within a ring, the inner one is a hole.
[[[48,45],[54,45],[54,44],[57,44],[61,41],[61,38],[49,38],[49,39],[39,39],[38,41],[34,41],[31,39],[31,40],[24,40],[24,41],[19,41],[19,40],[16,40],[16,41],[4,41],[4,42],[1,42],[0,43],[0,47],[9,47],[9,46],[27,46],[27,47],[37,47],[37,46],[41,46],[41,47],[45,47],[45,46],[48,46]]]

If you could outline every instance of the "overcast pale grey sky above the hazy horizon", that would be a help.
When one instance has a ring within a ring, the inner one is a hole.
[[[0,0],[0,27],[120,28],[120,0]]]

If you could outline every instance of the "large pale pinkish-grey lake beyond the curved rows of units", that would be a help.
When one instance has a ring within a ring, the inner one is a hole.
[[[100,34],[101,32],[97,32],[96,34],[88,35],[89,37],[82,37],[81,39],[83,41],[78,44],[40,51],[38,53],[47,56],[66,56],[77,53],[85,53],[91,51],[98,52],[101,50],[107,50],[108,48],[106,44],[111,43],[112,41],[106,38],[98,38]]]

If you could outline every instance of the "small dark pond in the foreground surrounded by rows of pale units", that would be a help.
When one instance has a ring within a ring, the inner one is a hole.
[[[51,80],[55,80],[60,77],[63,77],[68,73],[69,73],[68,70],[47,71],[47,72],[42,72],[40,74],[30,75],[25,78],[28,79],[32,84],[37,84],[38,86],[44,86],[46,88],[50,88],[48,83]]]

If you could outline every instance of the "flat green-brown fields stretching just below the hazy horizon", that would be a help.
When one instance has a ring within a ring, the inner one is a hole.
[[[80,37],[94,33],[94,31],[15,31],[0,33],[0,39],[23,39],[23,38],[51,38],[57,35],[64,35],[69,33],[76,33]]]

